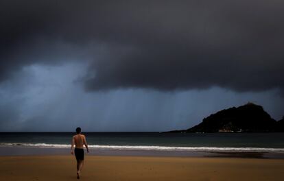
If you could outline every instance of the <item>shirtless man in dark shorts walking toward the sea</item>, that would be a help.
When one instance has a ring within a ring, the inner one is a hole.
[[[80,171],[84,165],[84,145],[88,152],[88,144],[86,143],[86,137],[81,134],[81,128],[76,128],[77,134],[73,136],[71,143],[71,154],[75,153],[77,160],[77,178],[80,179]],[[73,151],[75,145],[75,149]]]

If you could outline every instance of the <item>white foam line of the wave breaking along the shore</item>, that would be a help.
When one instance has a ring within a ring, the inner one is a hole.
[[[47,143],[0,143],[0,147],[41,147],[69,148],[65,144]],[[156,151],[191,151],[191,152],[283,152],[284,148],[272,147],[167,147],[156,145],[88,145],[90,149],[119,149],[119,150],[156,150]]]

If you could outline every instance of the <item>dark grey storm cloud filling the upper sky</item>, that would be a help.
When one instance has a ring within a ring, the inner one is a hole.
[[[95,45],[87,90],[283,90],[283,10],[255,0],[1,1],[0,80],[76,54],[60,42]]]

